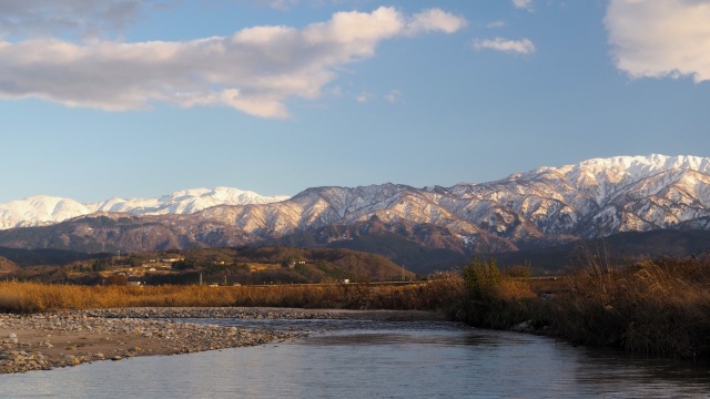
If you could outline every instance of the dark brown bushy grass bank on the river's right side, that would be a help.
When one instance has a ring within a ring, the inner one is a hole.
[[[454,317],[475,326],[532,330],[568,341],[669,357],[710,357],[710,259],[657,259],[618,267],[590,257],[534,290],[495,260],[464,267]]]

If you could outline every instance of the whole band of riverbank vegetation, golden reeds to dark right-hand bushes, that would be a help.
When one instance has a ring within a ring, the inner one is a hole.
[[[437,310],[473,326],[671,357],[710,357],[710,257],[615,264],[586,253],[557,278],[475,258],[409,285],[79,286],[0,283],[0,310],[266,306]]]

